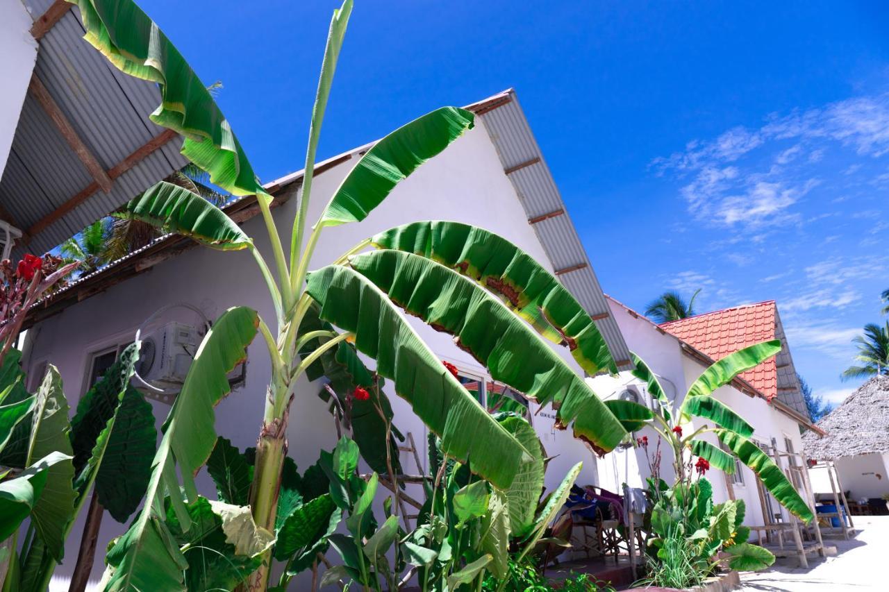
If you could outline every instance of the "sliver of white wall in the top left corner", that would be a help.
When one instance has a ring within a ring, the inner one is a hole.
[[[33,24],[19,0],[0,3],[0,77],[4,86],[4,92],[0,92],[0,173],[6,167],[37,60],[37,42],[31,36]]]

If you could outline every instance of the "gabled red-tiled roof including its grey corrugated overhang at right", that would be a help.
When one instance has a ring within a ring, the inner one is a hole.
[[[690,316],[663,323],[661,328],[716,360],[761,341],[781,340],[778,356],[740,376],[770,402],[777,397],[809,417],[774,300]]]

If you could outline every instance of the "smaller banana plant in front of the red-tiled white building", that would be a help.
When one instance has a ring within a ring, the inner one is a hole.
[[[606,404],[628,431],[649,426],[669,444],[673,450],[677,484],[685,483],[690,487],[694,474],[703,475],[711,466],[733,474],[735,459],[738,459],[759,477],[775,500],[803,522],[808,522],[813,518],[812,509],[781,468],[749,439],[753,427],[731,407],[712,396],[717,388],[730,383],[741,372],[755,368],[780,351],[781,340],[771,340],[725,356],[701,373],[681,399],[681,404],[679,399],[669,401],[654,372],[633,354],[636,369],[632,373],[646,383],[660,412],[652,412],[644,405],[630,401],[607,401]],[[684,430],[691,430],[689,422],[693,416],[712,424],[704,424],[684,436]],[[725,450],[701,439],[708,433],[715,434],[725,445]],[[647,438],[640,440],[647,446]],[[698,457],[694,464],[693,457]]]

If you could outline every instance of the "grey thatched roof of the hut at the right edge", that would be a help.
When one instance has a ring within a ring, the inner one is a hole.
[[[889,376],[875,376],[816,424],[828,433],[803,435],[810,459],[889,452]]]

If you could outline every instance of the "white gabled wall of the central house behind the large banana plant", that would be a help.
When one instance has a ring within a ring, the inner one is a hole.
[[[310,220],[317,218],[329,196],[355,162],[353,158],[316,176]],[[296,198],[292,197],[274,211],[278,226],[283,230],[282,235],[289,233],[295,207]],[[399,185],[392,196],[360,225],[325,231],[311,268],[331,262],[340,253],[380,230],[414,220],[435,219],[461,220],[489,228],[520,245],[551,269],[541,244],[527,223],[514,188],[503,174],[501,161],[485,132],[484,124],[480,122],[451,148]],[[260,218],[250,220],[244,228],[256,238],[260,251],[268,253],[268,239],[264,236]],[[283,240],[284,244],[288,244],[289,236],[283,237]],[[274,321],[274,311],[250,255],[198,247],[38,324],[29,332],[32,340],[26,363],[30,368],[36,368],[47,359],[56,364],[66,385],[68,400],[74,408],[83,388],[84,372],[91,353],[106,346],[109,340],[123,342],[132,339],[132,334],[143,319],[157,308],[180,301],[198,306],[211,318],[228,307],[247,305],[259,310],[269,324]],[[412,319],[412,323],[443,359],[464,371],[484,372],[471,356],[453,345],[450,336],[432,331],[416,319]],[[242,449],[255,444],[270,375],[268,354],[260,340],[254,341],[248,354],[246,384],[228,396],[216,412],[217,431]],[[567,352],[565,358],[571,360]],[[288,428],[290,455],[300,470],[316,460],[319,449],[332,448],[336,440],[332,418],[326,405],[316,396],[318,389],[317,385],[300,385],[298,398],[292,406]],[[425,428],[402,399],[390,397],[396,426],[403,432],[413,433],[420,447],[420,457],[425,462]],[[168,407],[155,404],[155,408],[159,425]],[[549,463],[548,487],[558,484],[567,469],[578,460],[583,460],[586,465],[579,483],[595,482],[593,454],[584,444],[573,440],[570,431],[554,430],[551,415],[548,410],[533,417],[534,426],[541,434],[547,452],[556,455]],[[416,472],[411,455],[403,452],[401,460],[409,472]],[[205,494],[214,492],[204,472],[198,478],[198,486]],[[414,498],[421,498],[419,491],[409,493]],[[83,519],[76,524],[74,532],[80,532],[82,525]],[[99,557],[108,540],[122,532],[123,525],[114,523],[109,516],[105,517],[100,533]],[[73,569],[78,544],[76,537],[68,541],[66,560],[59,569],[60,576]],[[93,568],[93,575],[97,578],[102,570],[100,563],[99,559]]]

